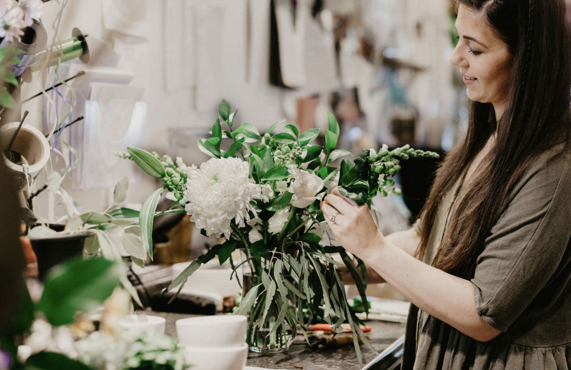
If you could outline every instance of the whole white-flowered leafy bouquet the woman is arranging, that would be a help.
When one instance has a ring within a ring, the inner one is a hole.
[[[342,332],[343,323],[351,325],[360,358],[359,339],[368,341],[345,297],[337,269],[342,264],[331,254],[340,255],[363,301],[367,271],[362,261],[342,247],[324,242],[328,227],[320,200],[337,186],[359,205],[370,205],[377,194],[398,195],[400,190],[391,179],[400,170],[397,158],[437,154],[408,145],[392,151],[383,146],[379,152],[364,150],[353,163],[343,159],[340,166],[333,166],[351,153],[335,149],[339,125],[332,114],[323,147],[312,144],[319,136],[317,128],[300,133],[296,126],[286,124],[284,132],[274,134],[278,122],[260,135],[251,124],[236,127],[236,111],[231,111],[226,100],[220,103],[219,113],[212,137],[198,142],[200,150],[211,156],[200,168],[139,148],[120,154],[147,174],[163,179],[163,187],[140,211],[143,244],[151,258],[152,220],[164,190],[175,200],[167,212],[186,212],[204,235],[226,239],[192,262],[168,289],[179,287],[180,291],[188,276],[216,256],[221,264],[230,260],[234,272],[247,266],[244,296],[235,313],[249,314],[247,342],[252,351],[287,350],[289,335],[298,328],[308,340],[308,325],[325,321],[333,325],[334,332]],[[221,147],[223,140],[230,142],[227,150]],[[243,252],[241,260],[232,258],[235,250]]]

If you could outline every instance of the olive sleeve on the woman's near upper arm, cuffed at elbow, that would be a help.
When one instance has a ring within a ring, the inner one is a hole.
[[[571,236],[569,155],[538,162],[510,194],[471,280],[478,314],[502,332],[558,270]]]

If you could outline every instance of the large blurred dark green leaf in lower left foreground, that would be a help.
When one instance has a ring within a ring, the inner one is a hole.
[[[120,266],[103,258],[73,259],[48,272],[38,311],[54,326],[70,324],[77,312],[102,304],[119,285]]]

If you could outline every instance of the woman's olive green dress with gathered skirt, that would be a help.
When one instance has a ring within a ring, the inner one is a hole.
[[[440,205],[426,263],[458,187]],[[570,237],[571,155],[557,146],[526,169],[477,258],[476,310],[502,333],[480,342],[411,305],[403,370],[571,369]]]

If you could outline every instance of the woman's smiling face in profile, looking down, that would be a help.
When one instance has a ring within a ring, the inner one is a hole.
[[[483,12],[460,5],[456,30],[460,41],[450,63],[460,67],[467,85],[468,98],[492,103],[496,111],[508,99],[513,56],[508,46],[496,35]]]

